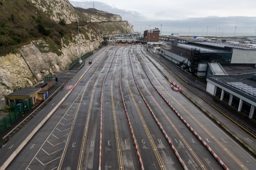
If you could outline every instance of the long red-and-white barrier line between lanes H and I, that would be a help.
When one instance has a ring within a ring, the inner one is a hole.
[[[129,57],[130,59],[130,57]],[[131,63],[131,60],[130,60],[130,63]],[[131,70],[133,71],[133,65],[131,64]],[[176,150],[175,146],[173,145],[173,143],[170,141],[170,138],[169,136],[167,135],[167,133],[165,132],[165,129],[163,129],[163,126],[161,125],[161,123],[158,121],[157,117],[155,116],[154,112],[152,111],[150,105],[148,104],[147,100],[145,99],[143,93],[140,91],[140,88],[138,87],[138,84],[137,84],[137,81],[136,81],[136,78],[134,76],[134,71],[133,71],[133,79],[135,81],[135,84],[137,86],[137,89],[138,89],[138,92],[140,93],[141,97],[143,98],[145,104],[147,105],[148,107],[148,110],[150,110],[150,113],[152,115],[152,117],[154,118],[155,122],[157,122],[157,125],[159,126],[159,128],[161,129],[163,135],[165,136],[166,140],[168,141],[170,147],[172,148],[173,150],[173,153],[175,153],[177,159],[179,160],[180,164],[182,165],[183,169],[186,169],[187,170],[187,166],[186,164],[184,163],[184,161],[182,160],[182,158],[180,157],[178,151]]]

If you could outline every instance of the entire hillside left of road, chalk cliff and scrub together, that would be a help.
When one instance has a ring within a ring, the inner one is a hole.
[[[0,14],[0,110],[9,93],[76,60],[78,39],[83,55],[100,48],[104,37],[133,31],[119,15],[74,8],[67,0],[0,0]]]

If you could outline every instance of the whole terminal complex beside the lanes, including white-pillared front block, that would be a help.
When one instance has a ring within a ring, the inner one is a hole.
[[[212,42],[173,41],[161,55],[197,77],[207,92],[256,119],[256,49]]]

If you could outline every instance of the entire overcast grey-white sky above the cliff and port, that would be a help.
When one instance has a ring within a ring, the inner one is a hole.
[[[69,0],[74,7],[120,15],[134,31],[158,27],[162,34],[256,36],[255,0]]]

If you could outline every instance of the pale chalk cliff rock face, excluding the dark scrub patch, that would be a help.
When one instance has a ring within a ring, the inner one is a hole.
[[[81,10],[73,8],[67,0],[24,0],[33,3],[42,10],[49,19],[66,24],[74,23],[79,17],[80,37],[77,28],[69,35],[61,38],[61,45],[52,48],[52,42],[40,38],[29,44],[20,46],[15,53],[0,56],[0,110],[6,107],[6,96],[17,89],[32,86],[48,75],[66,69],[70,63],[78,59],[80,39],[81,55],[98,49],[103,37],[113,34],[132,32],[133,28],[118,15],[101,12],[95,9]],[[55,49],[55,50],[52,50]]]

